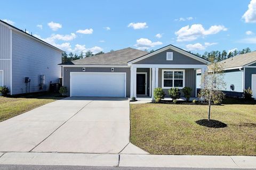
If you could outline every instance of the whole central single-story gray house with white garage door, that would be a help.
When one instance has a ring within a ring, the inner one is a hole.
[[[209,61],[169,45],[148,53],[125,48],[60,64],[70,96],[152,97],[156,87],[190,87],[196,96],[196,69]]]

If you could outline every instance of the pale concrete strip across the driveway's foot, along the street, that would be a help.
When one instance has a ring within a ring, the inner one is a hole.
[[[256,157],[6,152],[0,153],[0,165],[4,164],[175,168],[256,168]]]

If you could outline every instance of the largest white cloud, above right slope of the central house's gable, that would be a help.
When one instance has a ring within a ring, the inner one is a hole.
[[[193,41],[199,37],[206,35],[212,35],[220,31],[227,31],[223,25],[213,25],[209,29],[205,30],[202,24],[193,24],[189,28],[189,25],[182,27],[175,32],[177,35],[177,41]]]

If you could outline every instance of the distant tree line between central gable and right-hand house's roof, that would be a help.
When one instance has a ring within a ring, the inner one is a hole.
[[[240,55],[240,54],[245,54],[245,53],[250,53],[251,49],[249,47],[244,48],[242,50],[237,50],[235,49],[233,52],[227,52],[227,50],[223,50],[222,52],[216,50],[216,51],[211,51],[211,52],[204,52],[203,55],[199,54],[199,53],[192,53],[195,54],[199,57],[205,58],[206,60],[213,60],[214,62],[220,62],[222,60],[226,60],[227,58],[231,58],[234,57],[236,55]]]

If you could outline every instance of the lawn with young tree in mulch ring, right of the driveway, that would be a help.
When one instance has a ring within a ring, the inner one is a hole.
[[[256,156],[256,103],[228,98],[212,106],[212,119],[226,128],[195,123],[207,106],[132,104],[131,142],[150,154]]]

